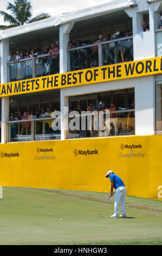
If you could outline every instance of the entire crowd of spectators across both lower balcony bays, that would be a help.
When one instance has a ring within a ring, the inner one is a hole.
[[[134,112],[124,112],[126,109],[134,109],[134,99],[132,100],[131,106],[125,107],[124,103],[120,103],[119,106],[116,106],[113,101],[111,101],[109,104],[105,101],[101,101],[100,97],[96,99],[96,104],[94,105],[93,102],[89,102],[89,105],[87,108],[82,108],[80,104],[77,104],[76,107],[70,106],[69,107],[69,121],[73,118],[70,117],[70,112],[76,111],[79,113],[79,116],[81,115],[82,111],[85,111],[86,113],[99,113],[100,111],[106,112],[106,111],[123,111],[119,113],[110,113],[110,122],[111,122],[111,135],[117,136],[117,135],[124,135],[126,131],[129,131],[129,133],[134,133]],[[23,135],[31,135],[31,119],[41,119],[41,118],[51,118],[53,117],[53,113],[56,113],[58,116],[58,109],[54,109],[54,111],[51,111],[51,109],[48,107],[46,110],[44,108],[41,109],[35,109],[35,111],[24,111],[22,114],[21,112],[15,112],[10,114],[9,121],[17,121],[17,120],[29,120],[23,123],[10,123],[10,137],[11,141],[15,141],[17,139],[17,135],[23,136]],[[60,111],[60,109],[59,109]],[[94,119],[92,115],[92,129],[88,130],[86,127],[86,130],[81,129],[81,121],[80,121],[80,130],[69,130],[69,133],[71,133],[71,137],[75,137],[77,134],[77,137],[94,137],[98,136],[98,129],[96,130],[94,127]],[[129,124],[128,124],[128,118],[129,118]],[[103,121],[105,123],[105,118],[103,118]],[[59,130],[54,131],[52,129],[52,122],[53,119],[45,120],[45,130],[44,132],[49,135],[49,138],[51,137],[52,133],[60,133]],[[43,134],[43,123],[41,120],[36,121],[36,135],[42,135]],[[86,124],[87,125],[87,124]],[[105,124],[104,124],[105,125]]]

